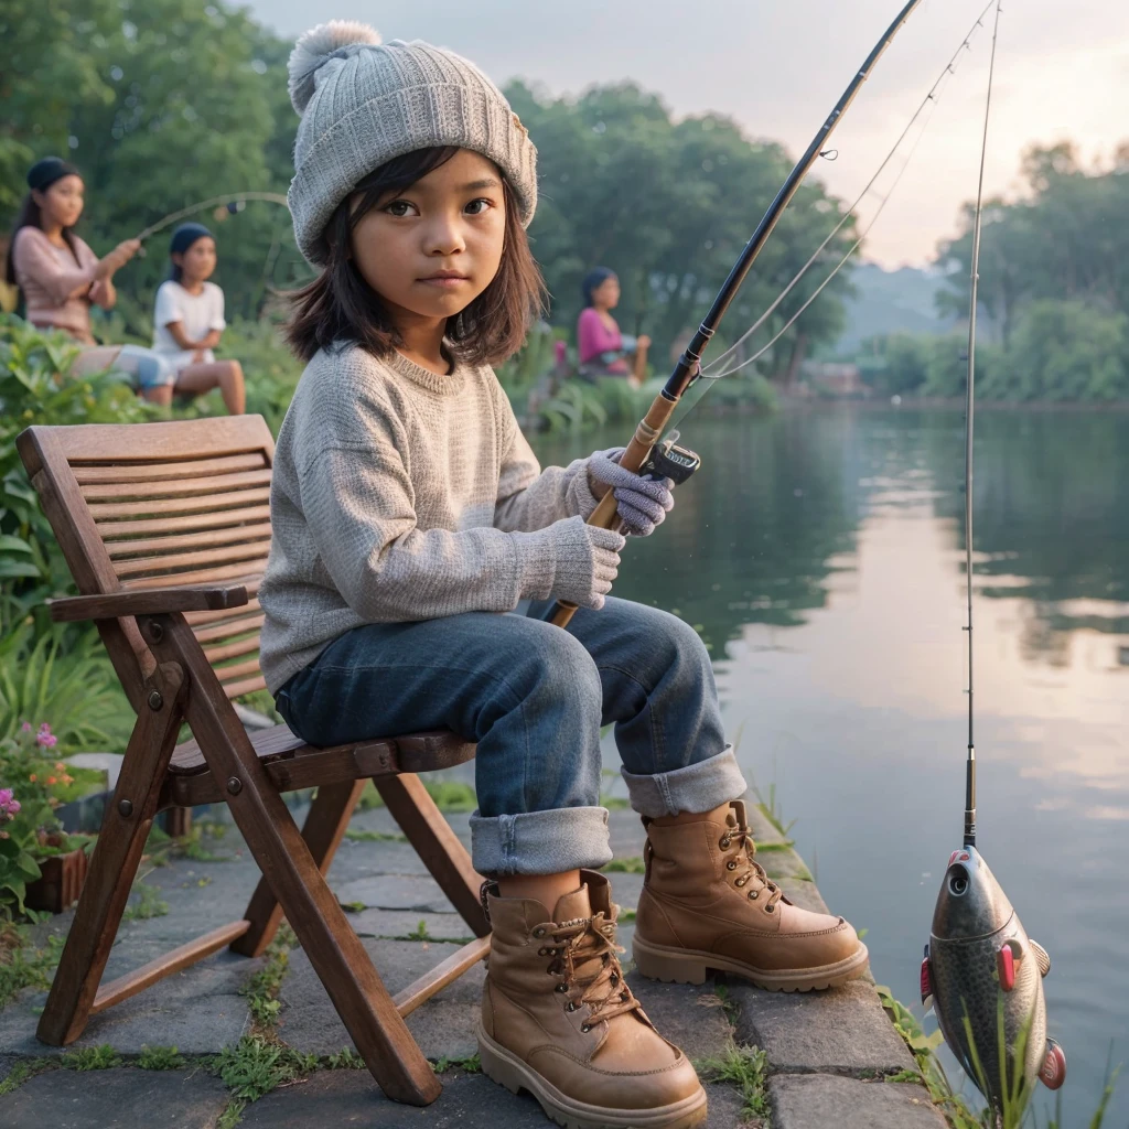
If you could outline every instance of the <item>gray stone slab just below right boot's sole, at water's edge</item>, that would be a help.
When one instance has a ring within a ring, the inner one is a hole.
[[[823,992],[770,992],[734,980],[737,1041],[760,1047],[786,1074],[896,1074],[914,1069],[874,988],[854,981]]]

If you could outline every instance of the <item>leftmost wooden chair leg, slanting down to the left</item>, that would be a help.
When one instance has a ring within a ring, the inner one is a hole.
[[[73,1042],[86,1027],[176,745],[183,717],[183,672],[173,663],[163,664],[151,684],[155,692],[130,735],[117,787],[106,806],[75,920],[36,1029],[40,1040],[53,1047]],[[154,702],[159,703],[156,709]]]

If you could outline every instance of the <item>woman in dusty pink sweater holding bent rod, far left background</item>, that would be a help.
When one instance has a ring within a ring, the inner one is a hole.
[[[59,157],[36,161],[27,186],[7,261],[7,279],[23,292],[27,321],[61,330],[82,347],[71,368],[76,376],[113,367],[132,376],[146,400],[167,403],[176,373],[164,358],[140,345],[99,345],[90,332],[90,306],[113,308],[114,273],[138,253],[140,240],[95,255],[73,230],[82,215],[82,177]]]

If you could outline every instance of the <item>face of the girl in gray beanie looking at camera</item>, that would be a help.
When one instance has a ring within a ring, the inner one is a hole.
[[[350,252],[393,321],[446,320],[493,281],[506,239],[501,174],[460,149],[411,187],[377,201]]]

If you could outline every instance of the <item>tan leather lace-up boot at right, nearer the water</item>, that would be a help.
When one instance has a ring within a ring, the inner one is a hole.
[[[754,860],[742,800],[644,823],[633,955],[645,977],[700,984],[707,969],[720,969],[773,991],[808,991],[863,974],[858,934],[840,917],[794,905]]]

